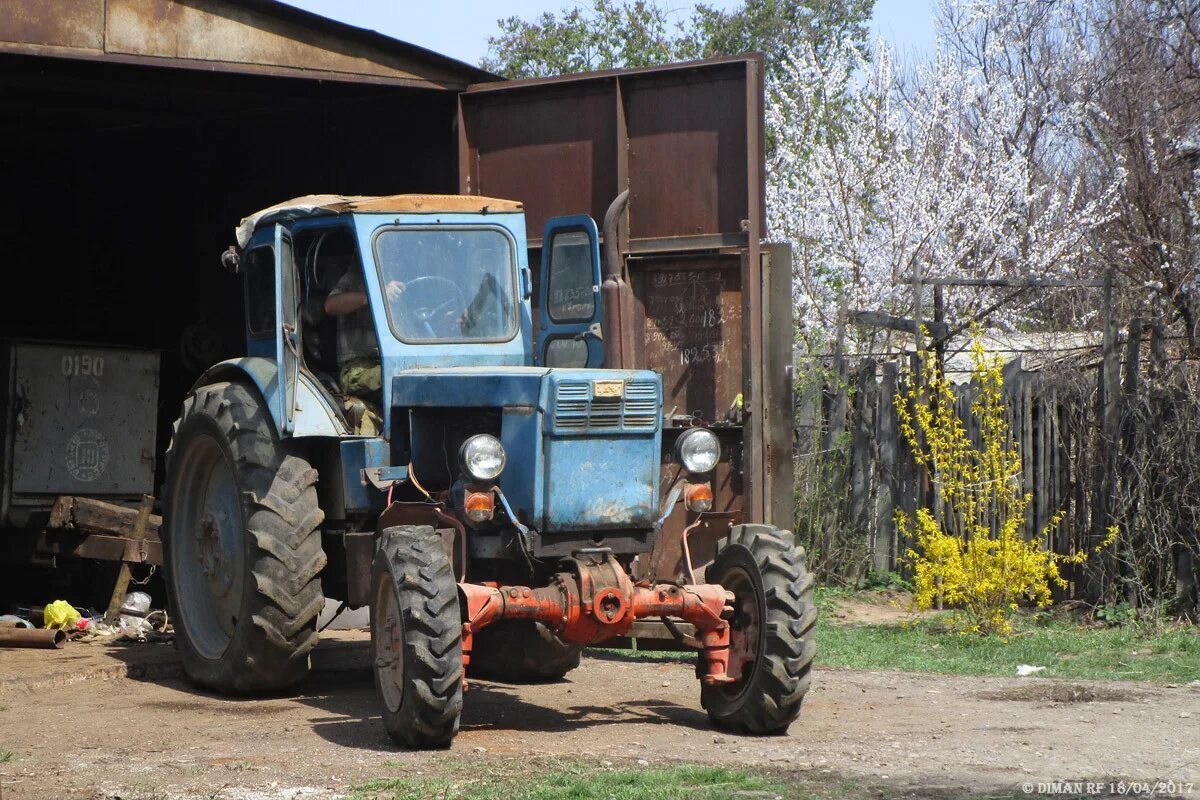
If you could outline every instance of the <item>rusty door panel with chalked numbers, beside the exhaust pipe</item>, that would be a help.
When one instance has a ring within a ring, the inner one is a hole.
[[[742,392],[740,259],[696,255],[635,264],[637,362],[662,373],[664,410],[724,421]]]

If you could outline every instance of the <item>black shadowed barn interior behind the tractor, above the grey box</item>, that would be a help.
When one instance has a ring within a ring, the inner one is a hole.
[[[454,112],[436,90],[0,56],[0,241],[28,281],[0,336],[160,350],[162,437],[244,347],[234,225],[314,192],[454,192]]]

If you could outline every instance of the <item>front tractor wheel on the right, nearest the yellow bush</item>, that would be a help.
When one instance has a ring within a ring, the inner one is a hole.
[[[701,703],[721,728],[784,733],[800,712],[816,652],[817,609],[804,549],[770,525],[736,525],[706,579],[734,595],[731,656],[744,667],[734,684],[704,686]]]

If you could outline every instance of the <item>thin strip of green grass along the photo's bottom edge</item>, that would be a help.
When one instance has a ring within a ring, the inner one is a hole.
[[[600,766],[562,759],[496,763],[464,760],[444,777],[389,777],[352,789],[349,800],[732,800],[739,792],[785,800],[846,796],[853,784],[811,787],[721,766]]]

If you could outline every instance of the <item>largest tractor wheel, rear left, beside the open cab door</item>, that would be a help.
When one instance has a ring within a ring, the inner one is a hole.
[[[308,674],[323,515],[317,470],[275,435],[258,393],[202,386],[167,449],[163,549],[175,648],[218,692],[271,692]]]

